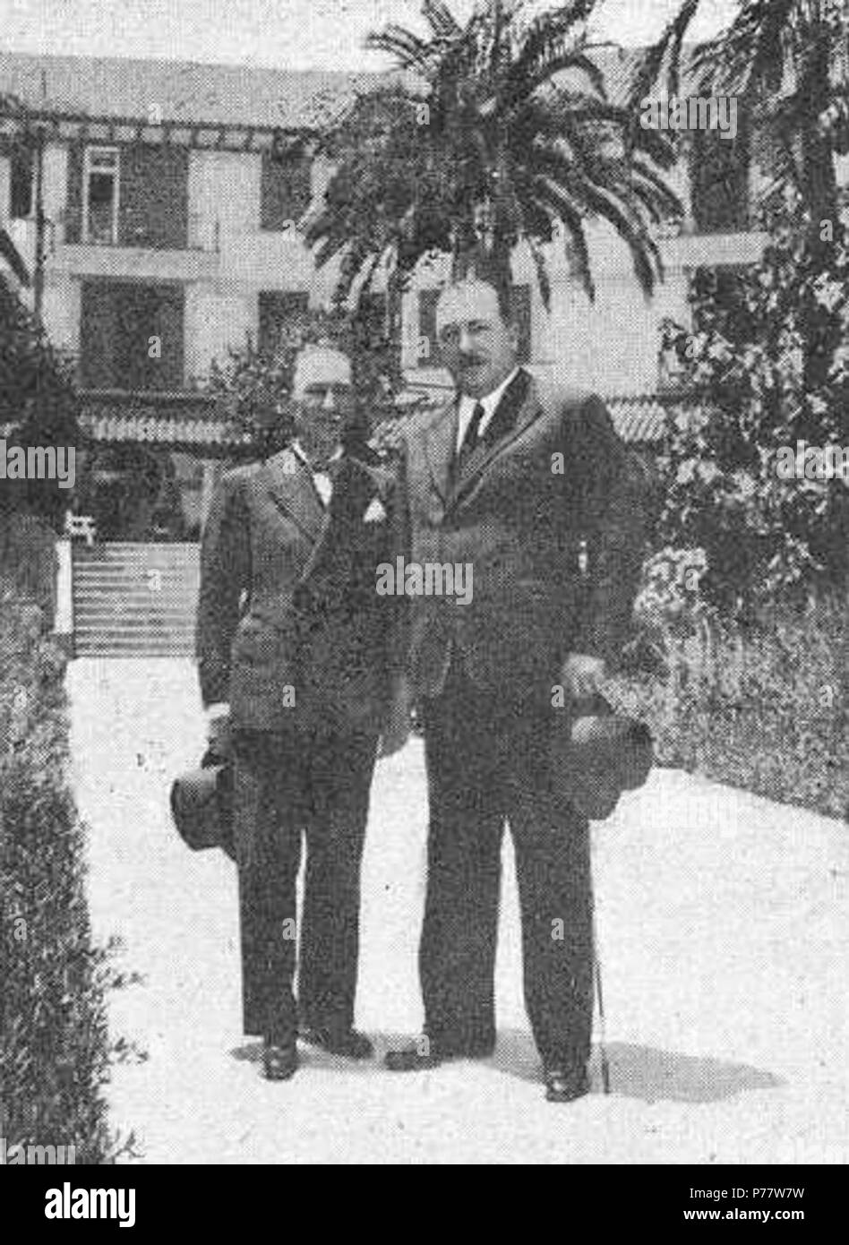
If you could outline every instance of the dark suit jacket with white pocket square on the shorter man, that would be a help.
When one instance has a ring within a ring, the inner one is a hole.
[[[332,517],[289,449],[228,472],[213,496],[195,650],[204,705],[229,701],[237,728],[380,728],[390,614],[373,566],[390,555],[391,533],[362,523],[373,479],[345,458],[332,474]]]

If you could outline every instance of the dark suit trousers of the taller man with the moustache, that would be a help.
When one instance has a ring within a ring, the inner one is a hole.
[[[443,1051],[495,1042],[500,849],[509,820],[522,913],[524,996],[545,1064],[583,1064],[593,1027],[589,823],[554,798],[550,705],[505,702],[454,657],[422,703],[429,830],[420,945],[424,1031]]]

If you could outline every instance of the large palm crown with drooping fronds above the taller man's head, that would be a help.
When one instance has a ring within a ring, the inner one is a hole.
[[[615,228],[651,291],[662,271],[651,224],[682,212],[661,173],[673,148],[632,134],[629,110],[607,98],[586,34],[595,2],[529,17],[525,0],[487,0],[462,25],[444,0],[424,0],[427,37],[396,25],[368,37],[400,72],[326,136],[336,168],[306,222],[317,264],[342,259],[337,298],[386,261],[398,294],[441,253],[456,275],[474,266],[509,283],[524,240],[548,306],[542,245],[558,235],[593,298],[593,219]]]

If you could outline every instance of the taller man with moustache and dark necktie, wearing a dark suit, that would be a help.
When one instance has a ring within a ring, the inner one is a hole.
[[[400,545],[420,565],[472,566],[473,598],[411,601],[429,792],[426,1022],[387,1066],[493,1051],[507,818],[525,1002],[546,1097],[565,1102],[589,1087],[593,895],[589,823],[555,794],[550,743],[563,695],[596,691],[619,649],[639,573],[636,498],[603,402],[548,392],[517,366],[505,304],[479,280],[443,291],[437,335],[457,396],[417,417],[405,443]]]

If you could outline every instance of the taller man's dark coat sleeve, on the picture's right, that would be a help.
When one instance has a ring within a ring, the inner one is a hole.
[[[584,402],[574,435],[586,571],[573,647],[615,664],[627,639],[645,552],[645,479],[599,397]]]

